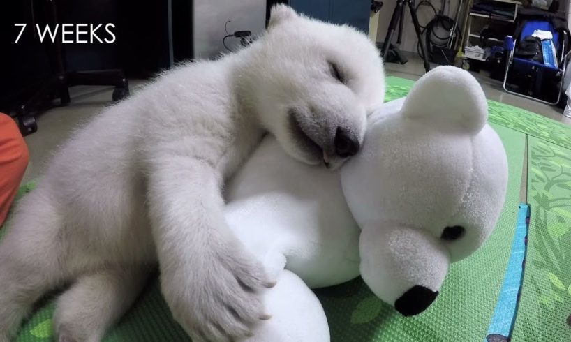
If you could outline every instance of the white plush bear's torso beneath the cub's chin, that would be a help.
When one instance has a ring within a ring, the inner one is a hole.
[[[359,272],[359,229],[337,172],[308,166],[267,137],[226,191],[226,221],[272,275],[285,268],[311,287]]]

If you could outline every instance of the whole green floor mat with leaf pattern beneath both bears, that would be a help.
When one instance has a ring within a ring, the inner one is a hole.
[[[412,84],[387,77],[387,101],[406,96]],[[571,341],[571,127],[494,101],[489,101],[489,122],[505,146],[510,177],[498,225],[486,244],[453,264],[436,301],[412,318],[381,302],[360,278],[316,290],[332,341],[486,341],[511,260],[526,142],[531,218],[511,341]],[[23,186],[19,196],[31,188]],[[54,296],[38,304],[16,341],[54,341]],[[189,339],[172,319],[155,277],[104,341]]]

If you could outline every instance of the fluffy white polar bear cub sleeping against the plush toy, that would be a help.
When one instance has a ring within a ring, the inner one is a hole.
[[[346,84],[332,77],[329,62]],[[98,341],[131,305],[149,269],[195,339],[244,336],[265,318],[262,267],[227,228],[221,188],[262,135],[291,156],[335,168],[334,133],[362,142],[384,92],[382,63],[364,34],[272,11],[251,47],[186,64],[98,114],[54,156],[0,244],[0,342],[47,290],[60,341]]]

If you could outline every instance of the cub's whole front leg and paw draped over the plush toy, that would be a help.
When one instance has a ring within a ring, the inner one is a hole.
[[[173,316],[198,341],[248,336],[267,319],[262,288],[270,284],[225,222],[221,174],[187,156],[163,154],[153,165],[149,216]]]

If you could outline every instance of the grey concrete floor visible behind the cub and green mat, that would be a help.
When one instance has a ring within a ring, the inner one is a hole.
[[[387,75],[394,75],[410,80],[417,80],[424,74],[422,61],[417,57],[410,57],[405,65],[386,64]],[[479,75],[475,74],[477,77]],[[563,117],[563,110],[535,101],[506,94],[501,89],[500,82],[486,77],[480,77],[482,87],[487,98],[501,103],[508,103],[531,112],[544,115],[557,121],[571,125],[571,119]],[[144,82],[131,81],[131,94],[142,87]],[[24,182],[36,179],[50,160],[57,147],[66,141],[74,128],[81,126],[91,116],[109,104],[112,98],[111,87],[74,87],[71,89],[71,104],[66,107],[57,107],[37,117],[38,132],[25,137],[30,151],[30,163],[24,174]],[[525,189],[522,188],[522,195]],[[524,200],[524,198],[522,198]]]

